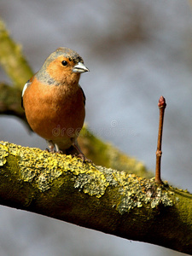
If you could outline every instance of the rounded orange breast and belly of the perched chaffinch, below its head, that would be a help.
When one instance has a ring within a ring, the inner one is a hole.
[[[32,130],[47,140],[78,137],[84,125],[84,96],[77,84],[41,84],[33,79],[23,96]]]

